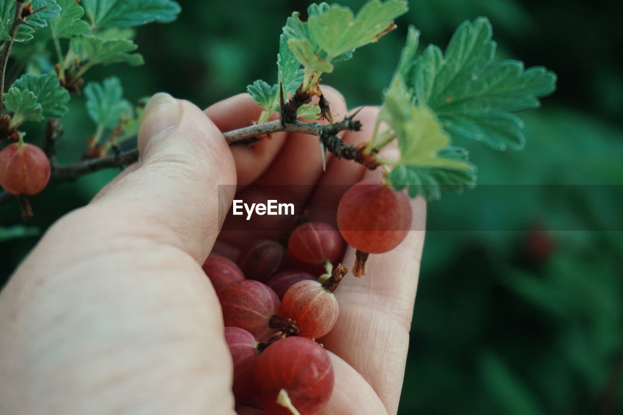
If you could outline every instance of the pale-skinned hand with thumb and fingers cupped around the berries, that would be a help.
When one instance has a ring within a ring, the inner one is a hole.
[[[323,91],[343,117],[341,95]],[[252,183],[353,184],[378,173],[332,157],[323,172],[313,136],[277,133],[249,148],[227,146],[220,131],[259,113],[248,95],[205,112],[152,98],[140,162],[59,219],[0,293],[0,413],[264,413],[234,409],[221,308],[201,269],[213,247],[235,257],[249,242],[235,232],[219,236],[217,185],[238,184],[244,194]],[[364,129],[345,140],[367,141],[377,113],[359,112]],[[302,189],[295,196],[311,216],[326,214],[316,201],[339,201],[318,186]],[[231,203],[233,186],[226,193]],[[424,202],[412,206],[414,229],[424,229]],[[348,275],[336,290],[340,317],[320,340],[336,387],[322,414],[396,413],[423,242],[423,231],[409,232],[396,249],[371,255],[365,277]],[[353,262],[348,249],[344,263]]]

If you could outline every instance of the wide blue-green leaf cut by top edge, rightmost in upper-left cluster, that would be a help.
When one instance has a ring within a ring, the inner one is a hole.
[[[82,0],[93,27],[128,27],[171,22],[181,8],[171,0]]]

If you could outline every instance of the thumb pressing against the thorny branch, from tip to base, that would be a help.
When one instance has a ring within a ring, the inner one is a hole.
[[[133,232],[175,244],[202,263],[235,191],[234,159],[221,131],[192,103],[157,93],[145,107],[138,150],[138,169],[122,173],[92,207],[114,211]]]

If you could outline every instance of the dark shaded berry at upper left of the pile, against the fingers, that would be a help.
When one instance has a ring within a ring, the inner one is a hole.
[[[247,279],[266,282],[285,257],[285,248],[275,241],[262,239],[240,253],[238,265]]]

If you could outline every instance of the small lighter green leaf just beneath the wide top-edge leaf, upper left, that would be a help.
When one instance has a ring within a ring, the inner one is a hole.
[[[88,61],[90,65],[114,64],[125,62],[136,66],[145,61],[140,54],[132,54],[138,46],[126,39],[105,40],[98,36],[80,36],[72,39],[71,49],[80,57],[81,61]]]

